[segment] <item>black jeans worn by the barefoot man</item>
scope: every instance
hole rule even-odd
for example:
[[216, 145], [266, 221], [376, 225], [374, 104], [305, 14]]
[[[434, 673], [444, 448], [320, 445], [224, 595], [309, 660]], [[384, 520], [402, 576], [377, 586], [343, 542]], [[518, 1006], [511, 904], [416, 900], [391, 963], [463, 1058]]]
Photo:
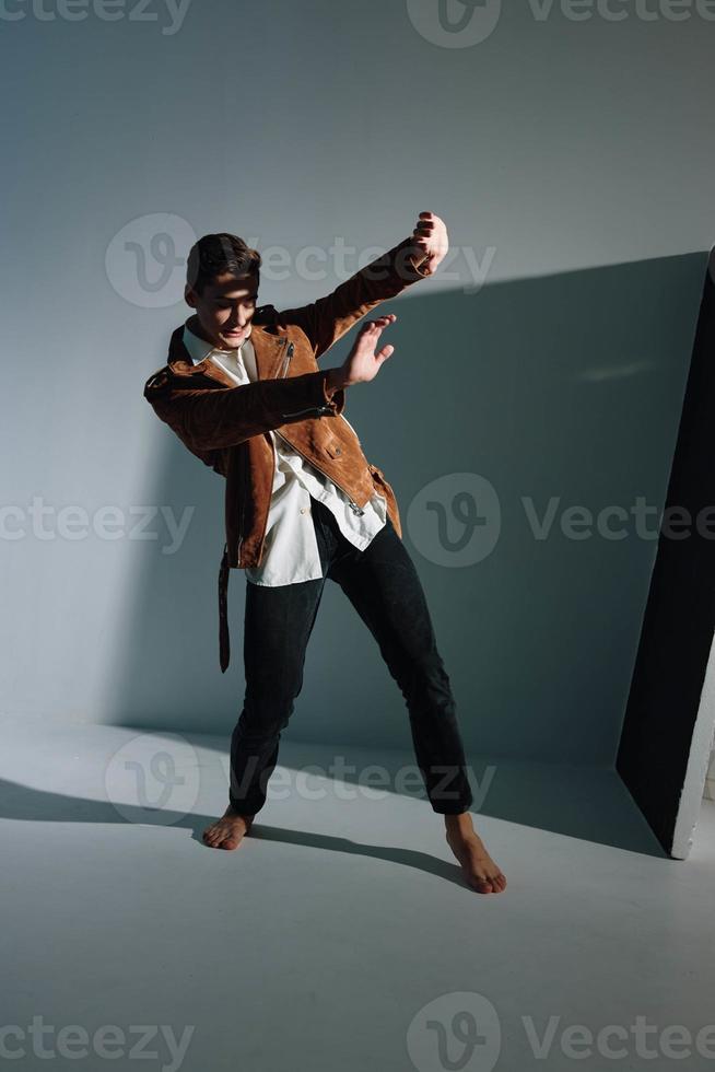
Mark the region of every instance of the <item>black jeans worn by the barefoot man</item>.
[[372, 631], [409, 711], [418, 767], [432, 808], [468, 811], [472, 794], [455, 701], [437, 652], [424, 591], [387, 517], [364, 551], [310, 497], [323, 576], [274, 587], [246, 579], [246, 694], [231, 738], [231, 804], [255, 815], [266, 803], [281, 731], [303, 686], [305, 652], [326, 578], [336, 581]]

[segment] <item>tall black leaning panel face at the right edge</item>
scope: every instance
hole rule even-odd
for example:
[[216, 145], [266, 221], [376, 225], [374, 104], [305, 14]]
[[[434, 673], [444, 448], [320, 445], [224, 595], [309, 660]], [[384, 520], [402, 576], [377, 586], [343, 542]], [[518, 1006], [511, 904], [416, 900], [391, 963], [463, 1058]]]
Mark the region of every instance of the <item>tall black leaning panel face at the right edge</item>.
[[[715, 286], [711, 255], [666, 513], [617, 758], [633, 799], [670, 851], [715, 629]], [[688, 524], [666, 534], [669, 509]]]

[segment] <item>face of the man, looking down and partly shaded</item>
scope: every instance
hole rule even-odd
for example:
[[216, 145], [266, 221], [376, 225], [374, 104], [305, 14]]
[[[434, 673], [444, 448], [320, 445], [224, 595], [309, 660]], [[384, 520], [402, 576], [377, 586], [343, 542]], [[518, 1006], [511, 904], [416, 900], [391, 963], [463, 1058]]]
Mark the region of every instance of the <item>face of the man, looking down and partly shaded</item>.
[[256, 312], [258, 282], [255, 276], [226, 272], [214, 276], [200, 294], [187, 284], [187, 304], [196, 310], [203, 337], [223, 350], [234, 350], [250, 335], [250, 322]]

